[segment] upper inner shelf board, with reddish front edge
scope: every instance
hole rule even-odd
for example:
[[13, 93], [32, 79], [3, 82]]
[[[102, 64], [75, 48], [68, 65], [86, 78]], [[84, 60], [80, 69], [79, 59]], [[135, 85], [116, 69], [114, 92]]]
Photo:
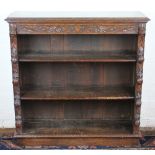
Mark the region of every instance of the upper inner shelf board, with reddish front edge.
[[20, 62], [135, 62], [133, 51], [19, 52]]

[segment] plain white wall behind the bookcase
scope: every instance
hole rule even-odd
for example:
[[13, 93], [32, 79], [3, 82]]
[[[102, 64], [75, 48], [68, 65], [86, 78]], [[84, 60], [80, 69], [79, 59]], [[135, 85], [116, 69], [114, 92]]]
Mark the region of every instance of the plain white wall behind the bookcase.
[[15, 127], [10, 40], [4, 19], [14, 11], [141, 11], [147, 24], [141, 127], [155, 127], [154, 0], [4, 0], [0, 4], [0, 128]]

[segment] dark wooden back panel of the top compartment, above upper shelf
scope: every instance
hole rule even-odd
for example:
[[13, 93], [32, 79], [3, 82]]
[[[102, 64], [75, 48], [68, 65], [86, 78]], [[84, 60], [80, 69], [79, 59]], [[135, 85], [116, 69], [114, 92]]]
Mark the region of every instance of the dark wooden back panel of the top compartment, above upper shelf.
[[[19, 35], [19, 52], [135, 51], [137, 35]], [[73, 52], [73, 53], [72, 53]]]

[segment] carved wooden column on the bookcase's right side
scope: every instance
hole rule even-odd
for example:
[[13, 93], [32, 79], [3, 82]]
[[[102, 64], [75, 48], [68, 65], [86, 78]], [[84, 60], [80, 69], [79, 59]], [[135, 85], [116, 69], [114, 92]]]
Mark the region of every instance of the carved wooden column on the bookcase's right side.
[[141, 94], [143, 83], [143, 62], [144, 62], [144, 42], [145, 42], [145, 24], [139, 24], [138, 30], [138, 47], [136, 61], [136, 81], [135, 81], [135, 104], [134, 104], [134, 125], [133, 132], [140, 132], [140, 111], [141, 111]]

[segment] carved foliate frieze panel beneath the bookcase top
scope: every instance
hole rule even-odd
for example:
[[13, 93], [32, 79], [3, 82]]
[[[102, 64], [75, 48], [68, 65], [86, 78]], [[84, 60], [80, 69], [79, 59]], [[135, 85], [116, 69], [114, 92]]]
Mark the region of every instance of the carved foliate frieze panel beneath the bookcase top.
[[137, 34], [137, 25], [19, 24], [19, 34]]

